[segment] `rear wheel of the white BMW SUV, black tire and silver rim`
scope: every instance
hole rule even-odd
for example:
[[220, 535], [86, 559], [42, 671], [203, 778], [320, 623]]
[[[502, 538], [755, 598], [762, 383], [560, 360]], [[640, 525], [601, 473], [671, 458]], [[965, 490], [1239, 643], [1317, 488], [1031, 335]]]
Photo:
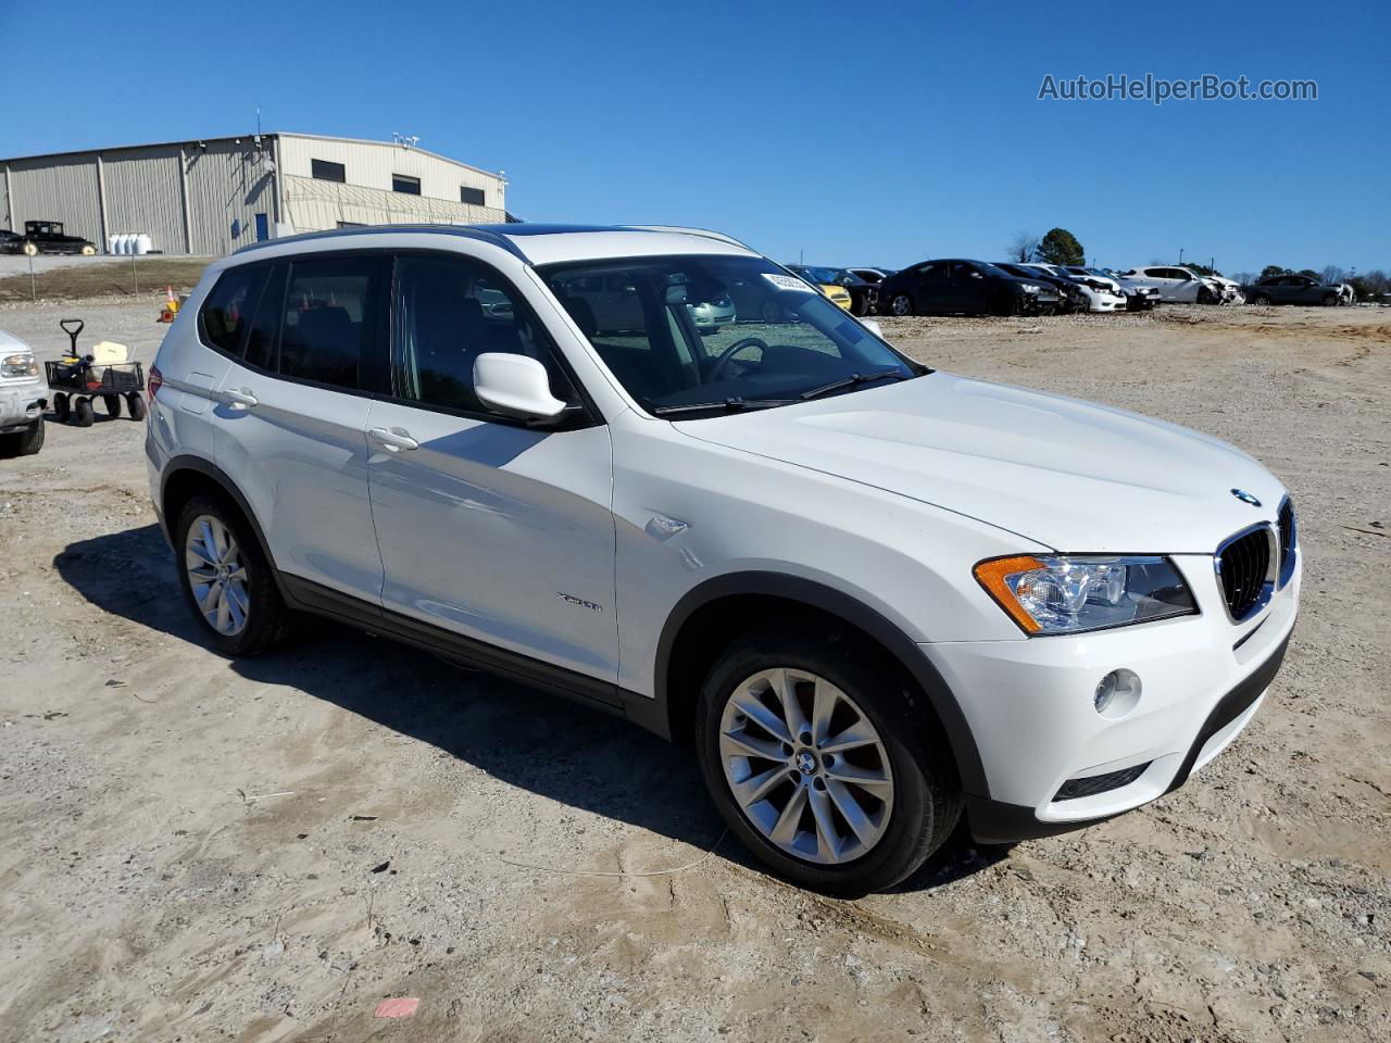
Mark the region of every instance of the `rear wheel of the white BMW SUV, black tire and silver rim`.
[[[270, 562], [230, 501], [193, 496], [185, 503], [174, 523], [174, 548], [184, 601], [217, 652], [259, 655], [285, 636], [289, 609]], [[211, 581], [196, 584], [195, 573]]]

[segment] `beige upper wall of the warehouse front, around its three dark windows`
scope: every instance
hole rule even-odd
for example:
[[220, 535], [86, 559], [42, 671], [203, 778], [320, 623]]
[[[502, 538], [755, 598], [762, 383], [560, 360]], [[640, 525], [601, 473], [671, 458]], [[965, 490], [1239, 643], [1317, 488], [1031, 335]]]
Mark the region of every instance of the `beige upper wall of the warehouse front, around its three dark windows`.
[[460, 186], [480, 188], [488, 209], [506, 210], [506, 182], [502, 178], [442, 156], [433, 156], [420, 149], [402, 149], [399, 145], [280, 135], [281, 171], [291, 177], [307, 178], [312, 175], [310, 160], [341, 163], [346, 171], [348, 185], [388, 193], [392, 174], [420, 178], [420, 197], [456, 204]]

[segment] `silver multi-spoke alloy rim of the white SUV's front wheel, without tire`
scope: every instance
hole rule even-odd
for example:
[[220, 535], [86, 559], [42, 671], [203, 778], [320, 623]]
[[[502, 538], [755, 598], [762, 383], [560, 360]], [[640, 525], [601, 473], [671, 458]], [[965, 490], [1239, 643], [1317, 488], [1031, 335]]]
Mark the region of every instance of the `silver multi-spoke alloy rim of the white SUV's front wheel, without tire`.
[[850, 862], [889, 826], [889, 751], [865, 712], [825, 677], [786, 668], [737, 684], [721, 718], [719, 759], [744, 816], [794, 858]]

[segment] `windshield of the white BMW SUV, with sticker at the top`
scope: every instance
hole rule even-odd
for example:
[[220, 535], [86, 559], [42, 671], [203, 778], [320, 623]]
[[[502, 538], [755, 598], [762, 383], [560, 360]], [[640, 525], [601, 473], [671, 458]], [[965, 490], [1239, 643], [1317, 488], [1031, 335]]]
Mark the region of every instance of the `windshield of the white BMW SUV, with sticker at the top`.
[[[857, 374], [906, 380], [924, 371], [762, 257], [640, 257], [538, 271], [651, 413], [785, 403]], [[709, 302], [727, 303], [704, 306]]]

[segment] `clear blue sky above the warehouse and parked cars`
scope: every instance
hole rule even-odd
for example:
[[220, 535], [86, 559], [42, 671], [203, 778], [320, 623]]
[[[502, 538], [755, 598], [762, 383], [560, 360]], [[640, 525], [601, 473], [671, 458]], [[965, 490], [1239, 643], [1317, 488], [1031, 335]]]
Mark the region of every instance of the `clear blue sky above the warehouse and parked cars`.
[[[533, 221], [779, 260], [1391, 268], [1391, 4], [0, 0], [0, 154], [267, 131], [506, 171]], [[51, 53], [54, 60], [39, 57]], [[11, 68], [11, 74], [15, 68]], [[1314, 79], [1316, 102], [1040, 102], [1045, 74]]]

